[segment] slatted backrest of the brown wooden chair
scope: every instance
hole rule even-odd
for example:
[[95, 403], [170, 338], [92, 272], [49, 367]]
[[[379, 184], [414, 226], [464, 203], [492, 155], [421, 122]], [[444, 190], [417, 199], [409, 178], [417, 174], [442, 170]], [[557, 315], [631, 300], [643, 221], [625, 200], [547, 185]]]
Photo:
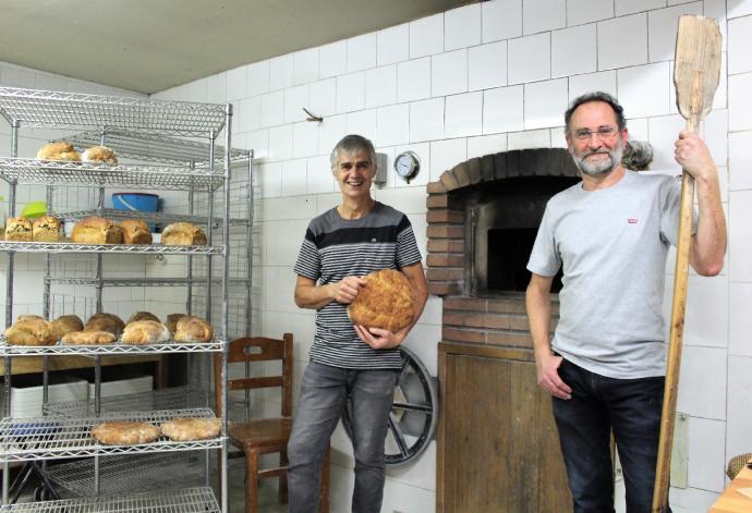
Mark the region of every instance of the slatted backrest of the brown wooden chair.
[[[221, 354], [214, 356], [214, 390], [217, 415], [221, 415]], [[280, 387], [282, 389], [283, 417], [292, 416], [292, 333], [284, 333], [282, 339], [266, 337], [246, 337], [229, 343], [227, 352], [228, 370], [232, 364], [245, 362], [282, 362], [281, 376], [244, 377], [227, 380], [228, 392], [233, 390]], [[228, 371], [229, 374], [229, 371]]]

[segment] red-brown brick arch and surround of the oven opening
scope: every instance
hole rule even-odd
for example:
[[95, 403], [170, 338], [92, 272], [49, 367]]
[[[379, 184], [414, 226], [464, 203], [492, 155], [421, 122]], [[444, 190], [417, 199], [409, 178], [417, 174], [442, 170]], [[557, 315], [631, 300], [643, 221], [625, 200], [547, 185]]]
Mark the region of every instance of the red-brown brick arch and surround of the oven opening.
[[[567, 150], [523, 149], [486, 155], [445, 171], [426, 186], [428, 291], [444, 296], [441, 338], [450, 342], [530, 347], [524, 300], [464, 296], [465, 209], [463, 187], [517, 176], [575, 176]], [[553, 305], [558, 315], [558, 303]], [[556, 319], [555, 319], [556, 320]], [[551, 325], [554, 329], [555, 322]]]

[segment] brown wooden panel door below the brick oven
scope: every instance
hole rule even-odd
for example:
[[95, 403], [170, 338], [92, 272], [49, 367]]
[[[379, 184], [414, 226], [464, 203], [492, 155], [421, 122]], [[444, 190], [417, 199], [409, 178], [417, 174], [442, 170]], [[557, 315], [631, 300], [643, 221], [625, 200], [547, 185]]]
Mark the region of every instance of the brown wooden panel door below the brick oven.
[[567, 486], [550, 395], [532, 362], [447, 354], [438, 450], [447, 512], [563, 512]]

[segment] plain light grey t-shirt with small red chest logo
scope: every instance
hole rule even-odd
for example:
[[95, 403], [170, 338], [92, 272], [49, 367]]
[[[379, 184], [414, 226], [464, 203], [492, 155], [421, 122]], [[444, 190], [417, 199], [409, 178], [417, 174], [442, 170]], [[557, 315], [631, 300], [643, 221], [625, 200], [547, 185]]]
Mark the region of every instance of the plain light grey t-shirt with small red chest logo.
[[665, 374], [665, 266], [680, 193], [670, 176], [627, 171], [608, 188], [578, 183], [548, 201], [527, 269], [550, 277], [563, 266], [554, 351], [611, 378]]

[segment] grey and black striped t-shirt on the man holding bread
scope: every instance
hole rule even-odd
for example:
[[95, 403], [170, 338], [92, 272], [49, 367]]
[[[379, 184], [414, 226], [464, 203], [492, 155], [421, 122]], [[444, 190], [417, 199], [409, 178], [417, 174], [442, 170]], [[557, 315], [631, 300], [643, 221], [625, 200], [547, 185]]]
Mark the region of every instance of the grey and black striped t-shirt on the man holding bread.
[[[361, 219], [342, 219], [332, 208], [314, 218], [305, 232], [294, 271], [317, 285], [380, 269], [401, 269], [421, 261], [408, 217], [376, 201]], [[348, 305], [332, 301], [316, 312], [316, 337], [308, 355], [342, 368], [399, 368], [399, 350], [374, 350], [357, 338]]]

